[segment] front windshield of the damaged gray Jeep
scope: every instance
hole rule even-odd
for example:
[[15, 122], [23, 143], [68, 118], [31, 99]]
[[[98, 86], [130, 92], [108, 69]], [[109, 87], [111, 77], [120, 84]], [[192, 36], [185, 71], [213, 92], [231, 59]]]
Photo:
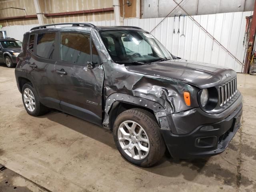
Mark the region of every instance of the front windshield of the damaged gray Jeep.
[[105, 30], [100, 35], [114, 62], [151, 63], [172, 59], [170, 52], [148, 32]]

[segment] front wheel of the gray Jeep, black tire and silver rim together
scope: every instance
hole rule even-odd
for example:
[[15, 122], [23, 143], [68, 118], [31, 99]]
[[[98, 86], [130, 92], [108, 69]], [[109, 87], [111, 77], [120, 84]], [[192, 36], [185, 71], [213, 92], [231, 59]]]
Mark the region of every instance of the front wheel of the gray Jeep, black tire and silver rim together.
[[113, 136], [120, 154], [137, 166], [152, 166], [164, 155], [165, 144], [160, 128], [147, 110], [133, 108], [118, 115]]

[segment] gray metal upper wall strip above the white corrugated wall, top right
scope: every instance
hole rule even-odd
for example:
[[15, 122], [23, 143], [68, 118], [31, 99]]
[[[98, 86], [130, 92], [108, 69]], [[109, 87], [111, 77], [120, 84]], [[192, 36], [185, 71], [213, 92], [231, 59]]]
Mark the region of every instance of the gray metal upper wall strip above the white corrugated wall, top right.
[[186, 14], [176, 2], [190, 15], [204, 15], [253, 11], [255, 0], [143, 0], [142, 18], [165, 17], [173, 9], [169, 17]]

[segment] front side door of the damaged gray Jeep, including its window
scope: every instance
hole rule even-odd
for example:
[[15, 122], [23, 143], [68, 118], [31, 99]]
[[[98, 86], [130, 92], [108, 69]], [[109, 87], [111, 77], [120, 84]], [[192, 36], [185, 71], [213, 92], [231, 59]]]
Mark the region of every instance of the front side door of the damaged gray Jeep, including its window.
[[[62, 111], [102, 125], [104, 71], [90, 34], [59, 33], [60, 61], [55, 83]], [[93, 63], [93, 68], [87, 64]]]

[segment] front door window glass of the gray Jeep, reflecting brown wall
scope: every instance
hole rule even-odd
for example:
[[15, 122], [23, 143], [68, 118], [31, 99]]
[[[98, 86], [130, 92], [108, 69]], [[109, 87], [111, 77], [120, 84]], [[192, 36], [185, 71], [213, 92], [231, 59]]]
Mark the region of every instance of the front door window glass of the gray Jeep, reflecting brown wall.
[[62, 61], [77, 64], [90, 61], [90, 35], [60, 33], [60, 58]]

